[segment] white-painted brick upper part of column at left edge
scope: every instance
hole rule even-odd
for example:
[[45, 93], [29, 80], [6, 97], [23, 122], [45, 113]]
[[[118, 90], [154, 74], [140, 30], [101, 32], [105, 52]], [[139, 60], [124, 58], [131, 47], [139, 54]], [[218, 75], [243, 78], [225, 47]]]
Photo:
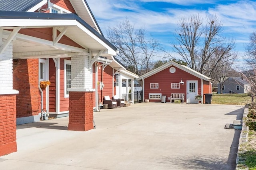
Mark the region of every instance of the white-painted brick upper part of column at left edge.
[[[2, 31], [0, 32], [0, 46], [6, 39], [3, 39]], [[13, 90], [12, 77], [12, 42], [6, 47], [4, 52], [0, 54], [0, 94], [18, 94], [17, 90]]]

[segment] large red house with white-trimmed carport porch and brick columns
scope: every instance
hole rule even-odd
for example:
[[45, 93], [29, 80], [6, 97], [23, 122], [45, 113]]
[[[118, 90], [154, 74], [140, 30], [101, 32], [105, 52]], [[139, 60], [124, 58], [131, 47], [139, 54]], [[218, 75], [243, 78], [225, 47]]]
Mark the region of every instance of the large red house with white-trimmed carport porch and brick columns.
[[43, 111], [69, 114], [69, 130], [93, 129], [99, 94], [117, 94], [117, 74], [120, 82], [138, 77], [113, 57], [116, 51], [86, 0], [0, 1], [0, 156], [17, 150], [16, 121], [39, 121]]

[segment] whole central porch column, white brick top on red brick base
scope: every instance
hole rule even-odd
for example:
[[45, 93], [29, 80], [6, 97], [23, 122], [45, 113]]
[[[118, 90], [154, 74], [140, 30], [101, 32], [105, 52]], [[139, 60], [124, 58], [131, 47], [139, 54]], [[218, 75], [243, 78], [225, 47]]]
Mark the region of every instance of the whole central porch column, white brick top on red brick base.
[[71, 88], [69, 91], [68, 130], [88, 131], [93, 125], [92, 69], [89, 56], [71, 57]]

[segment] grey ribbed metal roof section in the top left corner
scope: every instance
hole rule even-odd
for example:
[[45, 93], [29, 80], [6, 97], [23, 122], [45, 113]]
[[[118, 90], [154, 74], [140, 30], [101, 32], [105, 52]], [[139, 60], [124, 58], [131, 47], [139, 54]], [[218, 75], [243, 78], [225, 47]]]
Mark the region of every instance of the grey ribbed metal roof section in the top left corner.
[[1, 11], [26, 12], [42, 0], [0, 0]]

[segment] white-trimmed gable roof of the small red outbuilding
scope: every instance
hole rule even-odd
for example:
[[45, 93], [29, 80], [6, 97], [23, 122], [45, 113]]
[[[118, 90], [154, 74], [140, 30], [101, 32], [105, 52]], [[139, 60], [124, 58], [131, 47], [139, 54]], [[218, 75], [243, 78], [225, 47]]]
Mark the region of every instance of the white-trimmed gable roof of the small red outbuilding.
[[162, 70], [164, 70], [164, 69], [166, 69], [170, 66], [176, 66], [177, 68], [180, 68], [181, 70], [183, 70], [185, 72], [188, 72], [188, 73], [192, 74], [193, 76], [196, 76], [196, 77], [201, 78], [201, 79], [206, 80], [206, 81], [212, 81], [213, 80], [212, 78], [209, 78], [209, 77], [205, 76], [204, 74], [201, 74], [201, 73], [199, 73], [199, 72], [197, 72], [197, 71], [195, 71], [195, 70], [193, 70], [193, 69], [191, 69], [187, 66], [175, 63], [174, 61], [170, 61], [170, 62], [168, 62], [168, 63], [166, 63], [166, 64], [164, 64], [164, 65], [162, 65], [162, 66], [160, 66], [160, 67], [158, 67], [158, 68], [156, 68], [156, 69], [154, 69], [154, 70], [152, 70], [152, 71], [150, 71], [150, 72], [148, 72], [148, 73], [146, 73], [142, 76], [140, 76], [136, 80], [142, 80], [144, 78], [148, 78], [148, 77], [150, 77], [150, 76], [152, 76], [152, 75], [154, 75], [154, 74], [156, 74], [156, 73], [158, 73], [158, 72], [160, 72], [160, 71], [162, 71]]

